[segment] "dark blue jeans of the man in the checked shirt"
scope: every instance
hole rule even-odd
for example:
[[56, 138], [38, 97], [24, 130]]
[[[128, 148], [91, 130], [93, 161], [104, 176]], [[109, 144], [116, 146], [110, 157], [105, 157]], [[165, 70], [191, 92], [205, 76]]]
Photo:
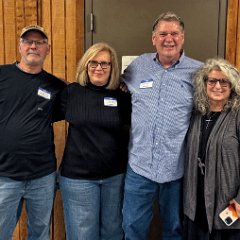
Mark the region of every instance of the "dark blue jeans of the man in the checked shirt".
[[162, 240], [182, 240], [182, 179], [153, 182], [128, 166], [123, 203], [123, 229], [126, 240], [146, 240], [158, 197]]

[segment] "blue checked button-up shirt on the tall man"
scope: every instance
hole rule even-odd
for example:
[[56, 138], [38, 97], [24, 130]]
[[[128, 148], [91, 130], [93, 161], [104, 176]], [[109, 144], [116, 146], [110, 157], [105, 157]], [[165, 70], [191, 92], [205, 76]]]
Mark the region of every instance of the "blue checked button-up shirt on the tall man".
[[183, 176], [184, 140], [193, 108], [193, 73], [201, 62], [181, 58], [164, 69], [156, 53], [143, 54], [125, 70], [132, 93], [129, 164], [159, 183]]

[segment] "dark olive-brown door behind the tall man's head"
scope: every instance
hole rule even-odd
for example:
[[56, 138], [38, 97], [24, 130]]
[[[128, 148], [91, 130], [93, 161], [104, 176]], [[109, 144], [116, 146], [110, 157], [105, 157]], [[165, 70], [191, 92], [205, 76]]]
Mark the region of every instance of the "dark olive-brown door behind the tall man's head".
[[227, 0], [86, 0], [85, 8], [86, 48], [106, 41], [119, 59], [152, 52], [154, 20], [162, 12], [173, 11], [185, 22], [188, 56], [205, 60], [225, 55]]

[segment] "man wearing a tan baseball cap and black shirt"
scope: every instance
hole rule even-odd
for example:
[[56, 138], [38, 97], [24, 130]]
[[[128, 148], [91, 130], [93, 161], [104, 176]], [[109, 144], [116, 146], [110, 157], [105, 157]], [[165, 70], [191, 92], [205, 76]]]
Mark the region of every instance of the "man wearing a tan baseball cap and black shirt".
[[43, 70], [44, 28], [22, 29], [20, 62], [0, 65], [0, 239], [12, 239], [23, 200], [28, 239], [50, 239], [56, 181], [54, 121], [66, 83]]

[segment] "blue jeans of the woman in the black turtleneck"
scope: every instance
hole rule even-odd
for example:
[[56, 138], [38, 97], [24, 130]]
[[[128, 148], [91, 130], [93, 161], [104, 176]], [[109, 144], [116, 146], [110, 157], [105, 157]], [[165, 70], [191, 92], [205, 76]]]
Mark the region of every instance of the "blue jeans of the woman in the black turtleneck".
[[124, 175], [101, 180], [60, 176], [68, 240], [122, 240]]

